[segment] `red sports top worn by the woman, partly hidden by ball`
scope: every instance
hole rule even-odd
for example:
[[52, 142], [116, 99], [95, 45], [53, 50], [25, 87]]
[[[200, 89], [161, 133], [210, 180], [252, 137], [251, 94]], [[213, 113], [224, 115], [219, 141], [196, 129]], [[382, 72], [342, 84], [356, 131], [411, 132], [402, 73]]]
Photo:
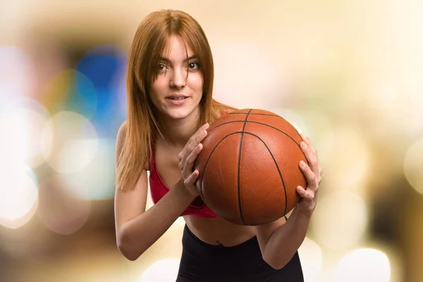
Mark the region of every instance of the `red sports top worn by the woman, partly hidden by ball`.
[[[222, 115], [226, 115], [227, 112], [222, 112]], [[152, 146], [152, 153], [151, 158], [149, 161], [149, 185], [150, 185], [150, 192], [152, 195], [152, 200], [154, 204], [159, 202], [159, 200], [166, 195], [167, 192], [169, 192], [169, 188], [166, 187], [163, 180], [161, 179], [159, 171], [157, 171], [156, 166], [156, 159], [154, 158], [154, 147]], [[200, 217], [207, 217], [207, 218], [216, 218], [218, 215], [214, 214], [209, 207], [207, 207], [206, 204], [202, 204], [201, 206], [194, 206], [190, 204], [187, 209], [180, 215], [185, 216], [191, 214], [193, 216], [200, 216]]]

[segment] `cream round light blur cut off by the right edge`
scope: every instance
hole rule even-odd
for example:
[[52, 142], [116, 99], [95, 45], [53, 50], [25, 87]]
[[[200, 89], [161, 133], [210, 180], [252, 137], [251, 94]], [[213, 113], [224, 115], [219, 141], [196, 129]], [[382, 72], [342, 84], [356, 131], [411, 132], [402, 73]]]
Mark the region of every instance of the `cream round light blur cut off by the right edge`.
[[404, 173], [412, 188], [423, 194], [423, 139], [415, 142], [407, 150]]

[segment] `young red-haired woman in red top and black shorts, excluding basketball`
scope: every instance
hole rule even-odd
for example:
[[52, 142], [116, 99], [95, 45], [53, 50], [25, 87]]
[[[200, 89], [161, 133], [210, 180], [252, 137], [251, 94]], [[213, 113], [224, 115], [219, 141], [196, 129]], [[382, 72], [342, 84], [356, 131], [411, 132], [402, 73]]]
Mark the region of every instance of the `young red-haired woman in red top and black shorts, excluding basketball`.
[[[307, 188], [288, 221], [239, 226], [202, 203], [192, 164], [209, 124], [233, 108], [214, 101], [213, 59], [202, 27], [181, 11], [149, 14], [128, 60], [128, 120], [116, 144], [116, 240], [130, 260], [183, 216], [177, 281], [303, 281], [298, 247], [317, 202], [321, 168], [303, 136]], [[147, 179], [149, 171], [149, 179]], [[154, 206], [145, 210], [147, 184]]]

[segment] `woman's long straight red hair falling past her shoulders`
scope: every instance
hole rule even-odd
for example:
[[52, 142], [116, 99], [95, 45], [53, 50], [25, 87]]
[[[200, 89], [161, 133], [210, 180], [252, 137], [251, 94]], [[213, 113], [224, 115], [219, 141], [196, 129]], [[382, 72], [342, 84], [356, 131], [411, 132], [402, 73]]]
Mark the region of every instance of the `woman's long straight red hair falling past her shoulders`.
[[135, 188], [137, 176], [152, 154], [150, 145], [154, 142], [154, 136], [160, 132], [148, 91], [149, 85], [157, 78], [159, 58], [173, 35], [183, 39], [185, 45], [197, 55], [204, 78], [199, 127], [204, 123], [213, 123], [219, 118], [223, 107], [233, 109], [212, 98], [212, 51], [199, 23], [182, 11], [150, 13], [138, 26], [128, 56], [128, 121], [116, 167], [116, 185], [121, 190]]

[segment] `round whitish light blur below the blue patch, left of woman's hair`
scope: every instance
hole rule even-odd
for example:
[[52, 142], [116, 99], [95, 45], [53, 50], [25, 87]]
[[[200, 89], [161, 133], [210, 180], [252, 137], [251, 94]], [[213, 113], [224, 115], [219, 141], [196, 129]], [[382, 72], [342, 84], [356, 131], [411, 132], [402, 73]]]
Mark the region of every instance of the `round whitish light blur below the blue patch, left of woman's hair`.
[[71, 111], [59, 112], [47, 121], [41, 143], [47, 163], [59, 173], [74, 173], [85, 168], [98, 149], [94, 125]]

